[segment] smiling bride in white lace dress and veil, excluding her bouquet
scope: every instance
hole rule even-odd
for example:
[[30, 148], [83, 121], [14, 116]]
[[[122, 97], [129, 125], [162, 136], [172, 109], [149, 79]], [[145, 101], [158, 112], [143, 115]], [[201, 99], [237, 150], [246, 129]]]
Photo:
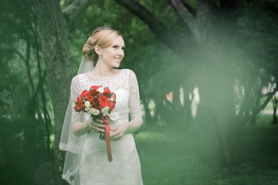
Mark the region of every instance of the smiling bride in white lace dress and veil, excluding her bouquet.
[[[62, 178], [71, 185], [142, 185], [141, 164], [133, 139], [142, 125], [139, 88], [135, 73], [118, 68], [124, 57], [122, 35], [109, 27], [98, 27], [83, 47], [77, 76], [61, 134], [60, 150], [66, 151]], [[91, 113], [76, 112], [74, 101], [92, 85], [108, 86], [116, 94], [115, 108], [108, 119], [112, 161], [106, 141], [99, 139], [105, 125]], [[130, 109], [131, 121], [128, 119]]]

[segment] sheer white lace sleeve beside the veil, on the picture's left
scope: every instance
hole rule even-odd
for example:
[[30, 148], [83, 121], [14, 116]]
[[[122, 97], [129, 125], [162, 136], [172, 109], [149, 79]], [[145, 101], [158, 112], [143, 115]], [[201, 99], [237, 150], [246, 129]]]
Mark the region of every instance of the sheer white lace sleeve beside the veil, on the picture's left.
[[71, 81], [70, 86], [70, 98], [71, 98], [71, 122], [72, 125], [74, 125], [76, 122], [83, 122], [83, 111], [78, 113], [74, 109], [74, 101], [77, 99], [77, 97], [80, 95], [79, 93], [79, 78], [78, 76], [74, 76], [74, 78]]

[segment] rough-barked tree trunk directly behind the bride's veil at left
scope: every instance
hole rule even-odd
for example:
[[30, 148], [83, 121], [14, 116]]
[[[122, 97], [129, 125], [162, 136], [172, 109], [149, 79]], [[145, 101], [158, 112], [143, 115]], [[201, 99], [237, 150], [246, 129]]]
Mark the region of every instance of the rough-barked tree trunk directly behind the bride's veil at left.
[[55, 168], [63, 169], [65, 152], [59, 150], [59, 142], [70, 98], [71, 79], [74, 76], [70, 62], [68, 33], [59, 1], [36, 0], [34, 6], [55, 119]]

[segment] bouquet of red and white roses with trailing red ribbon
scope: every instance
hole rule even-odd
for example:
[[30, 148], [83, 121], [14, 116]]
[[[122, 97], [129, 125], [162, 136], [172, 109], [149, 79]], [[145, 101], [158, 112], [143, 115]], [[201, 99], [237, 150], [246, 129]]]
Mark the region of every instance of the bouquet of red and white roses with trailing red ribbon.
[[99, 131], [99, 139], [106, 140], [107, 156], [109, 162], [112, 161], [111, 147], [110, 147], [110, 125], [108, 119], [109, 114], [115, 108], [116, 94], [111, 92], [108, 87], [91, 86], [88, 90], [84, 90], [80, 93], [80, 96], [74, 101], [74, 109], [76, 112], [83, 111], [84, 113], [91, 113], [93, 121], [96, 118], [103, 121], [106, 124], [105, 134]]

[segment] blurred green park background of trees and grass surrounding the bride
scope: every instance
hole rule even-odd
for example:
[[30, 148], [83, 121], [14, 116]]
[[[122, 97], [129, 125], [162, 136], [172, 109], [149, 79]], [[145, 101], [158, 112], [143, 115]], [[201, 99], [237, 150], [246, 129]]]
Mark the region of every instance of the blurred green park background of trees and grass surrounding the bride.
[[123, 35], [145, 185], [278, 184], [275, 0], [1, 0], [1, 184], [66, 184], [62, 125], [82, 47]]

